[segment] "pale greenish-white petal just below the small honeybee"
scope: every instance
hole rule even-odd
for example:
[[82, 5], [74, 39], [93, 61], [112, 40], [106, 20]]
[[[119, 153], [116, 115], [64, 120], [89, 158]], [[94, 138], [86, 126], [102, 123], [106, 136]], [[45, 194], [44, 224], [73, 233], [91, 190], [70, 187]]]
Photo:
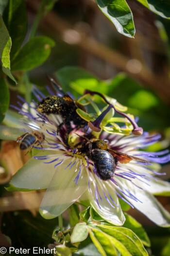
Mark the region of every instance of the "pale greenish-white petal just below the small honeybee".
[[[41, 152], [36, 156], [46, 156], [47, 154], [54, 154], [54, 151]], [[52, 159], [55, 159], [55, 155]], [[47, 161], [51, 161], [51, 159], [38, 160], [31, 158], [17, 171], [17, 173], [12, 177], [10, 183], [17, 188], [33, 190], [47, 188], [56, 171], [54, 168], [55, 162], [48, 164], [43, 163]]]

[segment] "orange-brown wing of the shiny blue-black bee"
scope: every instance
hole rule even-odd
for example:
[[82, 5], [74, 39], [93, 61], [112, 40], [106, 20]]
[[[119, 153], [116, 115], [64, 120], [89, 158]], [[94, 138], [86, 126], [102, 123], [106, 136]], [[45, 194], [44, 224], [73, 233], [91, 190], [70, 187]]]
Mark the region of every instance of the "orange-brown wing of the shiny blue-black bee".
[[124, 153], [121, 153], [121, 152], [118, 152], [116, 150], [109, 150], [109, 153], [118, 159], [118, 161], [120, 163], [129, 163], [130, 161], [132, 160], [136, 160], [136, 161], [140, 161], [140, 162], [144, 162], [144, 163], [150, 163], [149, 161], [147, 160], [144, 160], [142, 158], [136, 158], [136, 157], [132, 157], [132, 156], [129, 156], [129, 155], [126, 155]]

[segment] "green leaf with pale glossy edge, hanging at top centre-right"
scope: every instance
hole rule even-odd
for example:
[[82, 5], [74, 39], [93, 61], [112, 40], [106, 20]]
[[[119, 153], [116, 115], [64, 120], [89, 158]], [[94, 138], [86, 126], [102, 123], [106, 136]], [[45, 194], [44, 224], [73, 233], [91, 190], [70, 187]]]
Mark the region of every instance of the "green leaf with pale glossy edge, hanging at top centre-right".
[[96, 0], [101, 11], [116, 26], [118, 32], [126, 37], [133, 38], [135, 25], [133, 14], [125, 0]]

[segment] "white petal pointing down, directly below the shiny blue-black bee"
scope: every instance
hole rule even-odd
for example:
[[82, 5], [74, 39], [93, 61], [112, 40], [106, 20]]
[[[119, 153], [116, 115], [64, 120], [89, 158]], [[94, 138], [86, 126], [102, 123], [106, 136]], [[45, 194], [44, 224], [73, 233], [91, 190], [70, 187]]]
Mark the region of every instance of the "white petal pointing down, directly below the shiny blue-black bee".
[[[97, 180], [97, 177], [96, 177], [96, 180]], [[91, 206], [94, 208], [94, 210], [101, 216], [103, 217], [103, 219], [105, 219], [106, 221], [114, 224], [114, 225], [118, 225], [118, 226], [121, 226], [123, 225], [124, 221], [125, 221], [125, 217], [123, 215], [123, 212], [121, 210], [121, 207], [120, 207], [120, 204], [119, 204], [119, 199], [117, 197], [117, 195], [115, 194], [114, 192], [114, 188], [111, 189], [107, 182], [110, 182], [111, 186], [113, 186], [112, 182], [111, 181], [103, 181], [101, 180], [102, 183], [105, 184], [106, 186], [106, 189], [108, 190], [109, 194], [111, 195], [112, 199], [114, 200], [114, 202], [117, 204], [114, 205], [114, 203], [112, 202], [112, 200], [110, 199], [109, 195], [106, 194], [105, 192], [105, 195], [108, 197], [110, 203], [115, 207], [113, 208], [109, 203], [108, 201], [106, 200], [103, 192], [102, 192], [102, 189], [101, 187], [98, 185], [98, 190], [99, 190], [99, 194], [101, 195], [102, 197], [102, 200], [100, 199], [99, 195], [98, 195], [98, 202], [99, 202], [99, 205], [98, 205], [98, 202], [97, 202], [97, 199], [96, 199], [96, 195], [95, 195], [95, 189], [94, 189], [94, 186], [90, 186], [91, 188], [91, 192], [89, 192], [89, 190], [87, 190], [85, 192], [85, 194], [83, 195], [83, 197], [81, 197], [81, 199], [85, 200], [85, 197], [86, 199], [88, 199], [90, 201], [90, 204]]]

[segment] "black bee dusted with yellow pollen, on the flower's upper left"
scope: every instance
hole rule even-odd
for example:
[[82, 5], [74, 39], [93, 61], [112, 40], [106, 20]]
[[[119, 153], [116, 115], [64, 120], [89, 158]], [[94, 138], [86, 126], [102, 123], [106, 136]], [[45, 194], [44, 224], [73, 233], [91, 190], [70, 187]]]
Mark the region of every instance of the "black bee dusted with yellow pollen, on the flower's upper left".
[[[61, 115], [61, 117], [63, 118], [63, 121], [59, 124], [57, 128], [57, 134], [62, 128], [62, 126], [65, 124], [67, 128], [67, 138], [66, 138], [66, 142], [67, 142], [68, 135], [73, 129], [75, 128], [79, 129], [87, 125], [87, 121], [81, 118], [76, 112], [76, 109], [78, 108], [82, 109], [85, 112], [86, 112], [86, 109], [84, 105], [77, 102], [77, 100], [72, 99], [68, 94], [65, 94], [62, 88], [58, 84], [56, 84], [53, 79], [50, 78], [50, 80], [53, 87], [60, 93], [60, 95], [62, 95], [62, 97], [59, 97], [56, 95], [48, 96], [37, 104], [36, 110], [39, 113], [43, 113], [47, 115], [49, 114]], [[74, 128], [72, 128], [71, 122], [75, 125]]]

